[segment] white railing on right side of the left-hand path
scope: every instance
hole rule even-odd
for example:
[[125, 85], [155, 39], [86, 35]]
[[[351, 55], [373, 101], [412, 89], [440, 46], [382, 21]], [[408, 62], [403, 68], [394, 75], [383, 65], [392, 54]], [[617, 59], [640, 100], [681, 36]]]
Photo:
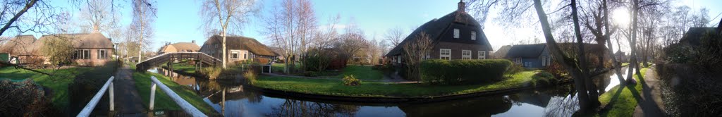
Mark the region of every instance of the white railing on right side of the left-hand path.
[[168, 88], [168, 86], [165, 86], [165, 84], [158, 81], [158, 79], [156, 79], [155, 77], [150, 77], [150, 79], [153, 82], [152, 86], [150, 87], [150, 104], [149, 104], [150, 110], [153, 110], [153, 105], [155, 105], [155, 87], [157, 85], [160, 85], [160, 90], [162, 90], [163, 92], [165, 92], [165, 94], [170, 96], [170, 98], [173, 99], [173, 101], [175, 103], [177, 103], [178, 106], [181, 106], [181, 108], [183, 108], [183, 110], [185, 110], [186, 113], [191, 114], [191, 116], [206, 116], [205, 114], [203, 114], [203, 112], [201, 112], [201, 110], [198, 110], [198, 108], [193, 107], [193, 105], [191, 105], [191, 103], [186, 102], [186, 100], [183, 100], [183, 98], [181, 98], [181, 96], [178, 96], [178, 94], [175, 94], [175, 92], [173, 92], [173, 90], [170, 90], [170, 88]]

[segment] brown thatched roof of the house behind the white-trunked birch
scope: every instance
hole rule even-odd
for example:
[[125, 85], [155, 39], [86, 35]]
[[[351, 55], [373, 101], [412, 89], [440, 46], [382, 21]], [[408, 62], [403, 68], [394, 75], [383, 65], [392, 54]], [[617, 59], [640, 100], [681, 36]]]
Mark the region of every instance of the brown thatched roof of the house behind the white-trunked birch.
[[[213, 35], [211, 38], [203, 43], [201, 50], [205, 49], [221, 49], [220, 35]], [[226, 48], [229, 50], [248, 50], [251, 53], [261, 56], [278, 56], [277, 53], [271, 50], [268, 46], [259, 43], [258, 40], [243, 36], [226, 36]]]

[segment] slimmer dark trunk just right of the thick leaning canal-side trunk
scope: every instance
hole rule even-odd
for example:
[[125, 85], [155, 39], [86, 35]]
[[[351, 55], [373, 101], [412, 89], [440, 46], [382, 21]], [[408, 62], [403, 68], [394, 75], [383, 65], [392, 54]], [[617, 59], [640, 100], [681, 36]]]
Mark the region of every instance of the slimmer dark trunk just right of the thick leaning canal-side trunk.
[[589, 101], [591, 103], [589, 106], [598, 106], [600, 104], [599, 92], [597, 92], [596, 85], [594, 85], [594, 82], [592, 82], [591, 77], [588, 75], [589, 67], [586, 60], [586, 51], [584, 51], [584, 41], [579, 27], [579, 15], [577, 13], [577, 3], [575, 0], [572, 0], [572, 20], [574, 23], [574, 35], [577, 38], [577, 46], [579, 48], [579, 53], [577, 54], [579, 59], [579, 69], [581, 71], [579, 77], [581, 77], [580, 79], [583, 79], [584, 84], [586, 85], [586, 90], [589, 92]]

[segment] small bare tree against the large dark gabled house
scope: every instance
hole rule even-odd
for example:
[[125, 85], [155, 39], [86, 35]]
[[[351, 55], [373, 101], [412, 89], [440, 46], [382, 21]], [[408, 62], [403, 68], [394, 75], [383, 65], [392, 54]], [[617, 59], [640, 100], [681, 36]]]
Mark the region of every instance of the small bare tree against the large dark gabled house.
[[431, 37], [426, 32], [421, 32], [419, 35], [415, 35], [413, 40], [404, 43], [403, 47], [404, 51], [401, 56], [404, 58], [404, 65], [406, 65], [406, 75], [409, 78], [418, 80], [421, 78], [421, 61], [434, 47]]

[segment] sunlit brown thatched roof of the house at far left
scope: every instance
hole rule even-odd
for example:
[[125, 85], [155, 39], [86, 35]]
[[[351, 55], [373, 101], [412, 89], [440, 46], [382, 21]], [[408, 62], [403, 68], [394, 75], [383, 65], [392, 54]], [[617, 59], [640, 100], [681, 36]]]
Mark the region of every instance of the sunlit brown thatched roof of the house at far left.
[[99, 32], [43, 35], [40, 40], [63, 39], [73, 42], [74, 48], [113, 48], [113, 42]]

